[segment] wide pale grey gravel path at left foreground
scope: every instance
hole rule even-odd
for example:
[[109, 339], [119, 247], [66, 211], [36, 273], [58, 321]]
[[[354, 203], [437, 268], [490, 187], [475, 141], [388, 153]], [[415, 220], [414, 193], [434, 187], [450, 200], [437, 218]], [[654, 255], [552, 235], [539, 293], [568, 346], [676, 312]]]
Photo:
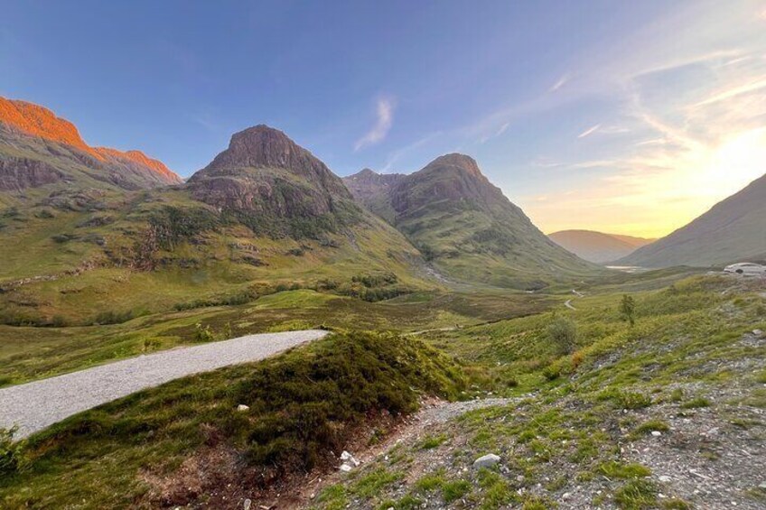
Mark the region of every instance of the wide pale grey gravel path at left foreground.
[[61, 422], [102, 403], [221, 366], [257, 361], [322, 338], [310, 329], [233, 338], [133, 357], [64, 376], [0, 389], [0, 428], [18, 425], [16, 438]]

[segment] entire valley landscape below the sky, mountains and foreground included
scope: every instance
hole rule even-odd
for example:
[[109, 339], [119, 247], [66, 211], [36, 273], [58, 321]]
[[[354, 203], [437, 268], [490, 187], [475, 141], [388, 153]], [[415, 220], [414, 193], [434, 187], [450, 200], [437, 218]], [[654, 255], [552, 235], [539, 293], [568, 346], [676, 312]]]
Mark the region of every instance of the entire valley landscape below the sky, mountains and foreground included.
[[255, 125], [182, 180], [2, 99], [0, 505], [758, 508], [759, 182], [549, 237], [466, 154], [341, 178]]

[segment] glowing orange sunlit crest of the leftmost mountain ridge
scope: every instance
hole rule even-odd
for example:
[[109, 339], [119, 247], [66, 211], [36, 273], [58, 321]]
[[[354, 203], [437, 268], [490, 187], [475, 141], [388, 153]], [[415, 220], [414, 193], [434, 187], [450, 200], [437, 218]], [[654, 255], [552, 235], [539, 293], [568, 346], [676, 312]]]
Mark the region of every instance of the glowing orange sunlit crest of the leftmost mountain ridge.
[[48, 108], [33, 103], [0, 97], [0, 123], [11, 125], [24, 134], [70, 145], [100, 162], [117, 160], [122, 163], [137, 163], [157, 173], [169, 184], [182, 182], [182, 179], [163, 162], [152, 159], [141, 151], [122, 152], [109, 147], [91, 147], [80, 137], [77, 127], [70, 121], [56, 116]]

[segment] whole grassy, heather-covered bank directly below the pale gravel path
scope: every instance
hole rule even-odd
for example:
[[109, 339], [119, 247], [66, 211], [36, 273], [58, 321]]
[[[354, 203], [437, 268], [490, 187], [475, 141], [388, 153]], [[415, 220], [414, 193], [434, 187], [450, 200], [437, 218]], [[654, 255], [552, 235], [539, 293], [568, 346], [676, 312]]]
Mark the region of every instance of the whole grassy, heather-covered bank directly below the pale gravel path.
[[[255, 365], [145, 390], [54, 425], [24, 446], [27, 467], [0, 479], [0, 502], [61, 507], [86, 498], [96, 506], [156, 505], [147, 473], [173, 485], [182, 459], [211, 452], [245, 459], [246, 467], [229, 476], [257, 471], [274, 480], [334, 462], [330, 451], [342, 450], [349, 431], [367, 417], [411, 413], [420, 394], [455, 397], [463, 385], [456, 366], [414, 339], [334, 335]], [[239, 403], [249, 411], [238, 412]], [[360, 480], [360, 494], [393, 481], [378, 475]], [[173, 504], [194, 498], [178, 487]]]

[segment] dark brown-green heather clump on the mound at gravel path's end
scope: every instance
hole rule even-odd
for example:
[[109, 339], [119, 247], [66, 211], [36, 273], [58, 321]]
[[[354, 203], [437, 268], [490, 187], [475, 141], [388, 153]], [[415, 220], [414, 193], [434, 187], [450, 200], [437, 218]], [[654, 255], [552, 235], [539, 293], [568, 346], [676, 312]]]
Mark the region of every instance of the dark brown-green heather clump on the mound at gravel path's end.
[[342, 450], [348, 427], [369, 413], [410, 413], [419, 391], [454, 397], [464, 386], [456, 366], [421, 342], [354, 333], [308, 359], [294, 352], [262, 365], [235, 394], [258, 414], [250, 462], [309, 469], [322, 452]]

